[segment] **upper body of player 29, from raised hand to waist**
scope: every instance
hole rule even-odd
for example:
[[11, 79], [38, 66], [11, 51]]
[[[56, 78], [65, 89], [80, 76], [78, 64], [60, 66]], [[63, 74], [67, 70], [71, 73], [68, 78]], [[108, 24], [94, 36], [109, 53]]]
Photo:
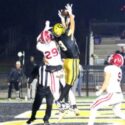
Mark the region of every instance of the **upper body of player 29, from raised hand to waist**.
[[[46, 65], [57, 66], [62, 65], [61, 55], [56, 42], [53, 39], [51, 31], [49, 31], [49, 22], [46, 21], [44, 30], [37, 37], [37, 50], [44, 55]], [[48, 27], [48, 28], [46, 28]], [[56, 62], [56, 63], [55, 63]]]

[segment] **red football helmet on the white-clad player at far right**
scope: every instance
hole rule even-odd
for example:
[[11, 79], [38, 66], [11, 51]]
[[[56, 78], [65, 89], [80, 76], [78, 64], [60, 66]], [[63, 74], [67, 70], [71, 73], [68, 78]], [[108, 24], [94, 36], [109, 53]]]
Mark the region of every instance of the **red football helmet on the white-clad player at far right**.
[[108, 59], [108, 63], [121, 67], [124, 64], [124, 58], [121, 54], [112, 54]]

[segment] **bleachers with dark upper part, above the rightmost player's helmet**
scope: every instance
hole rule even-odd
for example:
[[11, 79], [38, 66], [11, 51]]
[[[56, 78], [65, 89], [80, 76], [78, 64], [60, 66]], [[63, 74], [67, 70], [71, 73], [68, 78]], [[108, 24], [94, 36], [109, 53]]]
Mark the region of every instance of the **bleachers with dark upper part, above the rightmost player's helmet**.
[[94, 54], [97, 57], [94, 65], [103, 64], [107, 56], [121, 50], [118, 44], [125, 44], [124, 36], [122, 36], [125, 23], [92, 23], [91, 30], [94, 38]]

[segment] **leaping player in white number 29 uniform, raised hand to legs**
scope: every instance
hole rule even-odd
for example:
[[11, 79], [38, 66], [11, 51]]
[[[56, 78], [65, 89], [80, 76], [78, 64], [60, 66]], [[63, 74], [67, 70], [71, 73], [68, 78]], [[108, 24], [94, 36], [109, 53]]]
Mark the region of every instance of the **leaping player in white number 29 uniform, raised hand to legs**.
[[59, 77], [62, 75], [63, 62], [59, 48], [53, 40], [53, 35], [49, 29], [49, 21], [46, 21], [44, 30], [37, 37], [36, 48], [43, 53], [47, 70], [48, 72], [51, 72], [52, 84], [50, 85], [50, 88], [54, 99], [56, 100], [59, 98]]

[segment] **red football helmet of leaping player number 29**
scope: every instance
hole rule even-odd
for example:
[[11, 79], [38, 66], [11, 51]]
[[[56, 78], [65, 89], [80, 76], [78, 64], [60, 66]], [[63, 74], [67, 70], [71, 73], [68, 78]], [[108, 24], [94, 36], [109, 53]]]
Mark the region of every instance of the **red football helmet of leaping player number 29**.
[[52, 33], [48, 30], [44, 30], [40, 33], [39, 41], [41, 43], [49, 43], [52, 38]]

